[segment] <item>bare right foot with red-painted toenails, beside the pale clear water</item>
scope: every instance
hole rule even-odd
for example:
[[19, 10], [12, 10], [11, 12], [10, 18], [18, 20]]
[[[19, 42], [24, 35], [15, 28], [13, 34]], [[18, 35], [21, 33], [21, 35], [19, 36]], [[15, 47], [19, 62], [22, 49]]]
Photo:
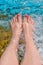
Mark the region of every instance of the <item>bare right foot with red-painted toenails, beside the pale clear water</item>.
[[23, 21], [23, 31], [25, 36], [25, 42], [33, 39], [34, 21], [32, 17], [25, 15]]

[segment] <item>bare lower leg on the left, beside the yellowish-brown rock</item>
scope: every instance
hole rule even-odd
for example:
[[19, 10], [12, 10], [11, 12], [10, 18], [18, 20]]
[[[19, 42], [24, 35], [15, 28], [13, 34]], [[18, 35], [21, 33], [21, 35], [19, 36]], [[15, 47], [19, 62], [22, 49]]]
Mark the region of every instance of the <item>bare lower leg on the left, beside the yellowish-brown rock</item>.
[[3, 53], [1, 57], [1, 65], [18, 65], [18, 60], [17, 60], [17, 47], [16, 47], [16, 42], [14, 41], [15, 39], [12, 39], [10, 41], [9, 46], [6, 48], [5, 52]]

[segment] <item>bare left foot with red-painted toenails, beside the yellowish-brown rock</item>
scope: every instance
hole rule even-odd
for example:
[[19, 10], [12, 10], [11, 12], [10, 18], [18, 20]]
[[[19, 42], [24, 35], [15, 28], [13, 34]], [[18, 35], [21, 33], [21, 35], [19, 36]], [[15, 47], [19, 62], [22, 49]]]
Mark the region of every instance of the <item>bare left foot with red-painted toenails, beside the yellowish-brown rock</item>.
[[20, 38], [20, 34], [22, 31], [22, 18], [20, 14], [15, 15], [15, 17], [12, 19], [11, 30], [12, 30], [12, 37], [18, 40]]

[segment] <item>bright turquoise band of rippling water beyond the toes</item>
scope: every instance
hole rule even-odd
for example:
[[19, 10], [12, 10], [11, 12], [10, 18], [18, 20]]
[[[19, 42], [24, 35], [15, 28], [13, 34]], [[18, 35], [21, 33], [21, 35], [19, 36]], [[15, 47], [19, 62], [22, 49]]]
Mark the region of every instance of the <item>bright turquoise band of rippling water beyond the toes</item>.
[[43, 14], [43, 0], [0, 0], [0, 14]]

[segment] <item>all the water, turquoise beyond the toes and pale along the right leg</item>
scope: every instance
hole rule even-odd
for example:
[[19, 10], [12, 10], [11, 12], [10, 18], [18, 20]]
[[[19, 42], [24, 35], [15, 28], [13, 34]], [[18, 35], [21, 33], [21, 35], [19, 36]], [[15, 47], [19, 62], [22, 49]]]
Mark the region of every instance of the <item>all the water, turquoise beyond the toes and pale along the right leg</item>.
[[28, 14], [35, 21], [34, 39], [43, 60], [43, 0], [0, 0], [0, 25], [9, 26], [11, 18], [20, 13]]

